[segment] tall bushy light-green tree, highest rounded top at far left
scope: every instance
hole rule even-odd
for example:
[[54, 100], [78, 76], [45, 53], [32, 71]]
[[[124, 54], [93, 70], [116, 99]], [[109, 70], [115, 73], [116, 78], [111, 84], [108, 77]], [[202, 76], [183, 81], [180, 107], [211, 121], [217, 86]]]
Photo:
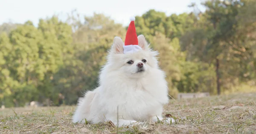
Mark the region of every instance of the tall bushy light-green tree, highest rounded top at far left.
[[56, 73], [61, 67], [76, 64], [72, 45], [72, 29], [67, 23], [61, 22], [57, 16], [53, 16], [49, 19], [41, 19], [38, 30], [44, 36], [43, 42], [39, 44], [39, 54], [44, 61], [43, 67], [46, 69], [46, 75], [38, 87], [41, 90], [40, 99], [50, 99], [58, 105], [57, 96], [60, 92], [63, 94], [63, 91], [55, 88], [59, 85], [57, 80], [60, 79]]

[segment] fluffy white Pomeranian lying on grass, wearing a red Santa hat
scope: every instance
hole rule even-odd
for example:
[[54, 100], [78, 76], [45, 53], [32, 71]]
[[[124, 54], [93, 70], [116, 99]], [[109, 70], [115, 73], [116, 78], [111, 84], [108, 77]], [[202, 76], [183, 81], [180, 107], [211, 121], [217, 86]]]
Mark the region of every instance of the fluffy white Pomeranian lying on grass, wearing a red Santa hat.
[[127, 126], [146, 120], [175, 122], [162, 116], [169, 98], [165, 73], [157, 63], [158, 53], [143, 35], [137, 37], [134, 20], [131, 19], [125, 43], [114, 38], [99, 75], [99, 87], [86, 92], [79, 101], [73, 123], [111, 121], [116, 126]]

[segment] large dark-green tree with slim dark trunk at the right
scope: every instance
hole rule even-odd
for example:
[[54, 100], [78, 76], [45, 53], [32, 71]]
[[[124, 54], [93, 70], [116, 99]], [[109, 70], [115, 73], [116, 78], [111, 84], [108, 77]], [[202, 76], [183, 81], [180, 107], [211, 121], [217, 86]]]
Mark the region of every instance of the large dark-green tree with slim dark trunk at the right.
[[[251, 48], [240, 49], [244, 48], [245, 42], [242, 38], [247, 34], [243, 31], [239, 35], [239, 20], [237, 20], [239, 9], [243, 3], [236, 0], [211, 0], [205, 2], [204, 6], [207, 7], [207, 10], [199, 16], [200, 21], [196, 24], [198, 27], [182, 37], [182, 46], [189, 50], [190, 59], [199, 59], [209, 64], [215, 61], [216, 85], [219, 95], [221, 84], [228, 89], [235, 83], [239, 83], [241, 73], [244, 73], [242, 71], [244, 67], [241, 65], [250, 62], [251, 58], [244, 63], [244, 58], [246, 59], [246, 56], [250, 55]], [[240, 25], [242, 24], [240, 23]], [[237, 66], [239, 64], [240, 66]]]

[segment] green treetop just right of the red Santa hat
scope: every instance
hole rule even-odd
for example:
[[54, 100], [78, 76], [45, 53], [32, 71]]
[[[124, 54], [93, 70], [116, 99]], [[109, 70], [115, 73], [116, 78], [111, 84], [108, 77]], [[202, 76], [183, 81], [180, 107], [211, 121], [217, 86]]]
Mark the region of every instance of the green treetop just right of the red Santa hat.
[[155, 36], [156, 32], [164, 34], [167, 38], [180, 38], [181, 35], [194, 27], [196, 16], [191, 14], [172, 14], [169, 17], [164, 12], [153, 9], [141, 17], [136, 17], [137, 34], [145, 34], [148, 38]]

